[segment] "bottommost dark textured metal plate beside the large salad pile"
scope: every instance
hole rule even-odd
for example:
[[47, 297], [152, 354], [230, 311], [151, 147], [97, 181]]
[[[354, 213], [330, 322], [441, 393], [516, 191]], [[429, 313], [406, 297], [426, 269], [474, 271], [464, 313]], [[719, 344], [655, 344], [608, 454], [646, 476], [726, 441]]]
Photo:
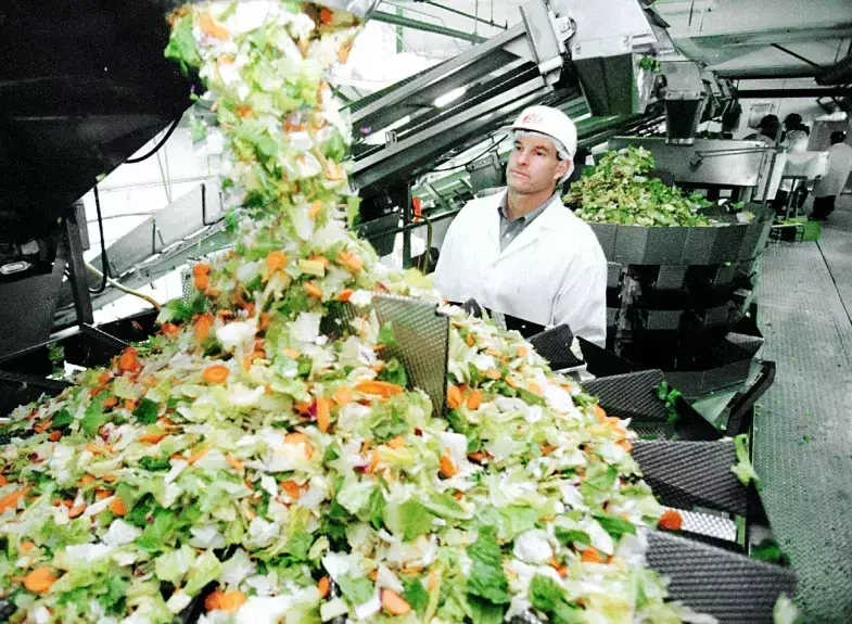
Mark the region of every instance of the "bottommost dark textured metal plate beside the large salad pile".
[[720, 624], [771, 624], [778, 596], [796, 587], [790, 570], [658, 531], [648, 532], [647, 560], [671, 580], [672, 598]]

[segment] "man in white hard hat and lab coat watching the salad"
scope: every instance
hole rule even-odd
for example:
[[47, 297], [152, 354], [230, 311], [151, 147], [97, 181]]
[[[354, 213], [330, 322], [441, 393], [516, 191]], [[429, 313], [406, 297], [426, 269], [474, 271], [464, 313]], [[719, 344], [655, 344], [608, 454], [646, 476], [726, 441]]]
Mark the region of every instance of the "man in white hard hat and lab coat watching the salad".
[[512, 125], [508, 190], [473, 200], [450, 225], [435, 269], [449, 301], [475, 298], [494, 311], [606, 342], [607, 259], [592, 228], [562, 205], [574, 168], [576, 128], [548, 106]]

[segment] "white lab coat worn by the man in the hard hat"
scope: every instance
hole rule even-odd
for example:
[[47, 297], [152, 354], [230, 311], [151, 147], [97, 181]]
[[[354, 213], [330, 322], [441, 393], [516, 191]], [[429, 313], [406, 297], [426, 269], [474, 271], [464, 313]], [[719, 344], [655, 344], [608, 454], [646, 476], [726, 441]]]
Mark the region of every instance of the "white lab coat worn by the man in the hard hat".
[[469, 202], [449, 226], [435, 288], [449, 301], [481, 305], [574, 335], [607, 338], [607, 258], [595, 232], [556, 198], [500, 252], [505, 193]]

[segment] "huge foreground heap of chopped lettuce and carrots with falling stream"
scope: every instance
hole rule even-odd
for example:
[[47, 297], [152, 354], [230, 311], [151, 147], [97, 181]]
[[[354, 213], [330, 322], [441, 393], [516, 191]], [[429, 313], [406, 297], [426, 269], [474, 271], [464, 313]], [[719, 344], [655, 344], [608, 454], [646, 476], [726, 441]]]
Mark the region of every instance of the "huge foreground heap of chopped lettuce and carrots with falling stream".
[[[349, 127], [325, 81], [358, 31], [292, 1], [186, 7], [231, 160], [236, 246], [156, 335], [15, 410], [0, 449], [13, 621], [712, 622], [666, 600], [645, 532], [676, 530], [630, 422], [520, 334], [450, 316], [448, 413], [409, 390], [369, 302], [438, 303], [346, 227]], [[335, 335], [330, 308], [363, 314]]]

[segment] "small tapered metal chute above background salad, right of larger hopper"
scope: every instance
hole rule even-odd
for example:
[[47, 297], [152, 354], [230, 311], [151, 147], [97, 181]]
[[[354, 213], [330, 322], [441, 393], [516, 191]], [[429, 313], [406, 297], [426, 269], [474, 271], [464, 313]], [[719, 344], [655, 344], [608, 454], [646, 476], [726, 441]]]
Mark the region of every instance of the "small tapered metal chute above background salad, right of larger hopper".
[[672, 145], [695, 143], [708, 95], [698, 65], [692, 61], [663, 61], [665, 140]]

